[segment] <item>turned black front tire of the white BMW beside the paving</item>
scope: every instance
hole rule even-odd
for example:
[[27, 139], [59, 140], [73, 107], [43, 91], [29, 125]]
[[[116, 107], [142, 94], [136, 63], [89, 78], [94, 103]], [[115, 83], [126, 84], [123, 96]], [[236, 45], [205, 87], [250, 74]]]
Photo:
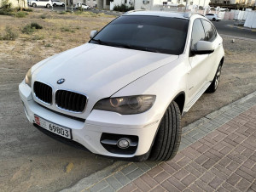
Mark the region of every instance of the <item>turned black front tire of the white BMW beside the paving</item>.
[[168, 161], [176, 154], [181, 140], [181, 115], [176, 102], [172, 102], [160, 121], [149, 160]]

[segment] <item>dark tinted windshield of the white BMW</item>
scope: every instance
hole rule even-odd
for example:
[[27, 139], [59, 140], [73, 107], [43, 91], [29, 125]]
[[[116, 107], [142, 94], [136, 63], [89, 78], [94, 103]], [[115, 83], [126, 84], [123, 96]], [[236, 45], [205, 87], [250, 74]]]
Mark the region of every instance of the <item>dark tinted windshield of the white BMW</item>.
[[123, 15], [100, 31], [90, 43], [162, 54], [183, 54], [189, 20]]

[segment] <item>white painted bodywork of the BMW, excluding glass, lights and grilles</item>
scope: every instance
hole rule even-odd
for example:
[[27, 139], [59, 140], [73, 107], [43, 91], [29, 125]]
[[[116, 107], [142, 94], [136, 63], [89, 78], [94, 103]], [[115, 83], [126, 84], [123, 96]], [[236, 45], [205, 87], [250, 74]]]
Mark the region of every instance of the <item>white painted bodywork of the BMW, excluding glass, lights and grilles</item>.
[[[181, 14], [164, 12], [143, 11], [130, 14], [188, 19]], [[212, 42], [215, 48], [212, 54], [189, 56], [192, 25], [198, 18], [204, 19], [199, 14], [193, 14], [188, 19], [187, 42], [180, 55], [86, 43], [32, 66], [32, 84], [35, 81], [45, 82], [53, 88], [54, 93], [58, 89], [84, 93], [88, 97], [88, 103], [83, 113], [61, 110], [55, 104], [44, 104], [37, 99], [33, 89], [23, 81], [19, 91], [27, 119], [33, 123], [34, 114], [37, 114], [47, 121], [71, 128], [73, 140], [96, 154], [126, 158], [146, 154], [172, 100], [179, 93], [185, 93], [183, 113], [187, 112], [209, 86], [224, 57], [222, 38], [219, 35]], [[56, 81], [61, 78], [65, 78], [66, 82], [59, 85]], [[141, 114], [120, 115], [116, 112], [93, 110], [100, 99], [143, 94], [156, 95], [156, 99], [150, 110]], [[85, 122], [61, 116], [55, 111], [84, 118]], [[100, 143], [102, 133], [137, 135], [139, 143], [136, 152], [132, 155], [108, 152]]]

